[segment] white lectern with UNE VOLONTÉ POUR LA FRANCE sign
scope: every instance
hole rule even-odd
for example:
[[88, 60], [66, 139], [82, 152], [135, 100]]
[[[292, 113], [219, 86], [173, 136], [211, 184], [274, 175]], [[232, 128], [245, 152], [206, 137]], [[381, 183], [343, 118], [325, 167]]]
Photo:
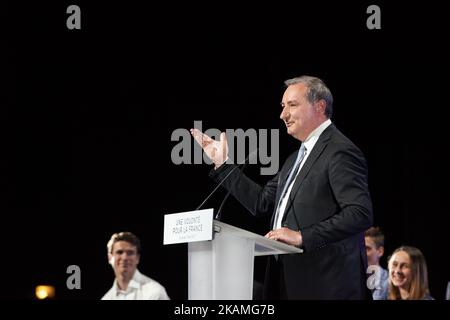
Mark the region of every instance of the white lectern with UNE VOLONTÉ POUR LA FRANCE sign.
[[[172, 216], [171, 218], [181, 216], [182, 219], [172, 219], [173, 222], [168, 223], [168, 216]], [[212, 209], [166, 215], [164, 243], [189, 242], [189, 300], [251, 300], [255, 256], [302, 252], [297, 247], [212, 220], [212, 216]], [[200, 222], [202, 219], [203, 222]], [[192, 224], [194, 220], [198, 222], [195, 226]], [[182, 233], [180, 225], [187, 222], [189, 226], [183, 227], [186, 232], [180, 236]], [[213, 230], [205, 230], [211, 227]], [[173, 232], [172, 230], [178, 230], [175, 240], [171, 239], [174, 235], [169, 234]], [[195, 239], [199, 234], [192, 235], [189, 230], [200, 230], [203, 235], [198, 239], [205, 239], [206, 231], [208, 240]], [[209, 238], [208, 234], [211, 235]]]

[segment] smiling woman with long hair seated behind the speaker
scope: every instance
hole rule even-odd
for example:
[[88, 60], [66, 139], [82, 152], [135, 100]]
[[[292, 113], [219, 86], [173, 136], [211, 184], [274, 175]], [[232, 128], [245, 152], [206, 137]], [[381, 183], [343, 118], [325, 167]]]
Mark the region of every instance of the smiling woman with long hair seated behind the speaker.
[[427, 263], [422, 252], [402, 246], [389, 258], [389, 300], [434, 300], [428, 289]]

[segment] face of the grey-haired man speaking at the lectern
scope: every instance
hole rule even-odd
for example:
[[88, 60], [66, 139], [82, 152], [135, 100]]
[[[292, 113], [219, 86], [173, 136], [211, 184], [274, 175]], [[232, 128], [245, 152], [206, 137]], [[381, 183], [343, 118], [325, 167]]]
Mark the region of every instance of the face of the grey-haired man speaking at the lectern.
[[289, 86], [281, 101], [280, 119], [284, 121], [287, 132], [294, 138], [304, 141], [324, 120], [324, 101], [312, 104], [307, 99], [308, 88], [304, 83]]

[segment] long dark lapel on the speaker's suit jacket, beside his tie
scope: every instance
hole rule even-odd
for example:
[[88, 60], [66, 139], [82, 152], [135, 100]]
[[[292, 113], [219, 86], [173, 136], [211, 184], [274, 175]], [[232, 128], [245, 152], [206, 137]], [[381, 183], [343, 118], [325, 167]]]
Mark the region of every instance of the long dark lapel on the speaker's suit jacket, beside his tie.
[[[319, 137], [319, 140], [317, 140], [316, 144], [314, 145], [311, 154], [306, 159], [305, 164], [300, 169], [300, 172], [298, 173], [297, 178], [295, 179], [294, 186], [291, 190], [292, 199], [295, 199], [295, 195], [297, 194], [298, 189], [300, 188], [301, 184], [305, 180], [306, 176], [308, 175], [309, 171], [311, 170], [312, 166], [316, 162], [316, 160], [319, 158], [319, 156], [322, 154], [323, 150], [328, 144], [328, 141], [331, 138], [331, 135], [334, 131], [334, 125], [330, 124], [328, 128], [326, 128], [322, 134]], [[288, 201], [286, 205], [286, 210], [284, 211], [283, 221], [286, 216], [286, 213], [289, 211], [290, 207], [292, 206], [292, 203], [294, 201]]]

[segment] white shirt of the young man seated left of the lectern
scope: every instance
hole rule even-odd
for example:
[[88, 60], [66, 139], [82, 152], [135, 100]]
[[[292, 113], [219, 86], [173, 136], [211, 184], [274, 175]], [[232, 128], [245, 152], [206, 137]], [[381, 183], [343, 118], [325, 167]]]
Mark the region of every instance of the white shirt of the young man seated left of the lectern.
[[117, 286], [117, 280], [114, 280], [112, 288], [102, 300], [170, 300], [170, 298], [162, 285], [136, 269], [127, 290], [121, 290]]

